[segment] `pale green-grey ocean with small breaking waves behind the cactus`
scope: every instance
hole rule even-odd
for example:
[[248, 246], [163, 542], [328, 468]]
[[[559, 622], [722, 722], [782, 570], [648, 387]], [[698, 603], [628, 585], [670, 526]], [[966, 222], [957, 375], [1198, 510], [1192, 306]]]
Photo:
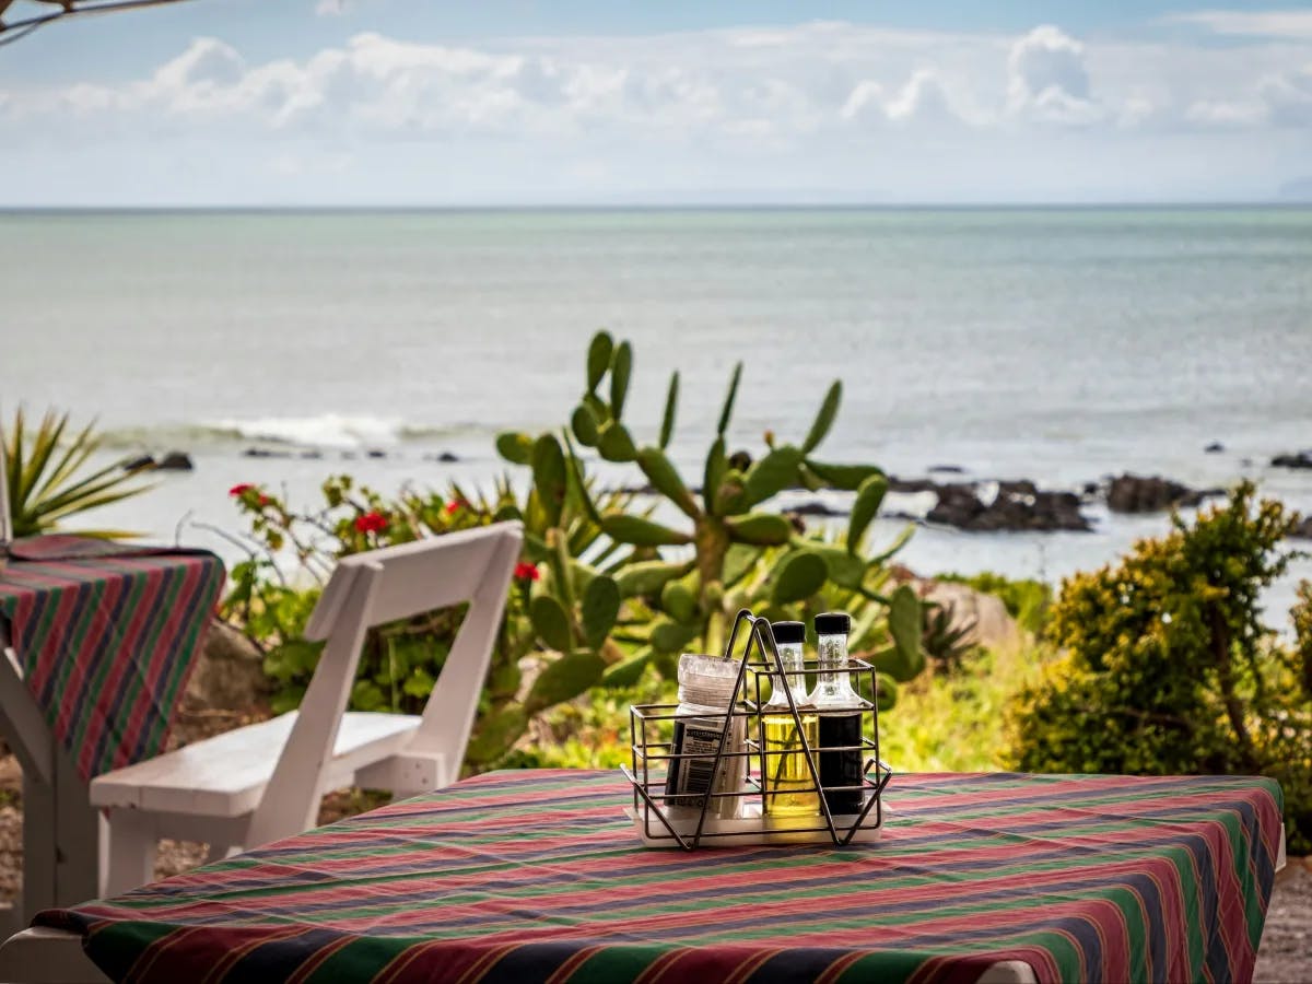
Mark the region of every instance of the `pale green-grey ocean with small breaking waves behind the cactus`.
[[[207, 527], [241, 529], [239, 482], [303, 504], [340, 471], [488, 483], [499, 430], [568, 419], [602, 327], [634, 344], [639, 438], [681, 371], [693, 476], [743, 359], [749, 450], [799, 440], [841, 378], [825, 459], [1050, 488], [1249, 476], [1312, 510], [1312, 472], [1269, 467], [1312, 446], [1312, 209], [8, 213], [0, 297], [0, 413], [52, 405], [115, 454], [195, 462], [88, 522], [230, 559]], [[901, 559], [1056, 580], [1168, 527], [1086, 512], [1094, 533], [925, 527]]]

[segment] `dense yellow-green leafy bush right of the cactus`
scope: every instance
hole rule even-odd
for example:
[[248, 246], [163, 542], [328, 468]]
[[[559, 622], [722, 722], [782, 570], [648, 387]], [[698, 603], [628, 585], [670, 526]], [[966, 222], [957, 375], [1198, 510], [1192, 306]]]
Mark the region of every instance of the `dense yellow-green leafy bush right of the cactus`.
[[1296, 647], [1261, 619], [1296, 516], [1240, 485], [1223, 506], [1068, 579], [1048, 638], [1061, 656], [1009, 715], [1026, 771], [1277, 778], [1290, 849], [1312, 848], [1312, 597]]

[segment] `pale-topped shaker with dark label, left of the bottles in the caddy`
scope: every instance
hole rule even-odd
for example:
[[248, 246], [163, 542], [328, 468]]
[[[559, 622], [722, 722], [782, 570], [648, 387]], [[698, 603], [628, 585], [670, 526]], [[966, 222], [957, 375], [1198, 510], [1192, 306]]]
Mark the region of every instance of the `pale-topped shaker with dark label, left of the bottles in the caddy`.
[[[737, 660], [694, 653], [678, 657], [678, 707], [674, 708], [674, 741], [670, 748], [674, 757], [669, 760], [665, 778], [665, 806], [674, 812], [701, 812], [708, 794], [743, 791], [748, 762], [743, 754], [747, 728], [741, 716], [731, 716], [729, 707], [737, 672]], [[715, 753], [726, 727], [729, 736], [720, 766], [715, 769]], [[712, 796], [706, 813], [733, 819], [739, 815], [741, 799]]]

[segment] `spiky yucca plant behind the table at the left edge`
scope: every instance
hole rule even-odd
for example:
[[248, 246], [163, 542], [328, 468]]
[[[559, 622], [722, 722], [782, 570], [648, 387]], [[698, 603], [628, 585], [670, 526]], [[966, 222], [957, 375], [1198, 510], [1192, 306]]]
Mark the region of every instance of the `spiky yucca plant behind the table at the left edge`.
[[[41, 422], [29, 428], [20, 407], [13, 415], [13, 425], [0, 429], [14, 537], [51, 533], [77, 513], [151, 488], [138, 480], [138, 474], [150, 466], [129, 468], [123, 461], [115, 461], [98, 468], [88, 467], [102, 445], [94, 433], [96, 424], [92, 421], [81, 430], [72, 430], [68, 417], [68, 413], [46, 411]], [[79, 533], [104, 539], [134, 535], [122, 530]]]

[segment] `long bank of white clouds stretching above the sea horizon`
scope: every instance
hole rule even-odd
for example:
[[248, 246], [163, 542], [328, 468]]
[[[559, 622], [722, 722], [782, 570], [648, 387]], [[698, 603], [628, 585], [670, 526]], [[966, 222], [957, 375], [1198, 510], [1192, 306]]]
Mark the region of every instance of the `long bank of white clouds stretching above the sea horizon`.
[[42, 148], [109, 159], [148, 146], [161, 161], [228, 161], [252, 188], [354, 176], [354, 188], [412, 199], [426, 199], [434, 173], [443, 189], [521, 198], [680, 186], [1006, 197], [1060, 188], [1072, 160], [1089, 169], [1081, 189], [1126, 181], [1128, 159], [1147, 161], [1135, 181], [1172, 193], [1173, 169], [1199, 154], [1229, 155], [1228, 173], [1275, 167], [1260, 134], [1281, 134], [1290, 160], [1312, 156], [1309, 122], [1312, 46], [1287, 38], [832, 22], [453, 45], [361, 33], [262, 62], [198, 38], [135, 81], [0, 85], [0, 186], [45, 186], [33, 174], [58, 169], [26, 156]]

